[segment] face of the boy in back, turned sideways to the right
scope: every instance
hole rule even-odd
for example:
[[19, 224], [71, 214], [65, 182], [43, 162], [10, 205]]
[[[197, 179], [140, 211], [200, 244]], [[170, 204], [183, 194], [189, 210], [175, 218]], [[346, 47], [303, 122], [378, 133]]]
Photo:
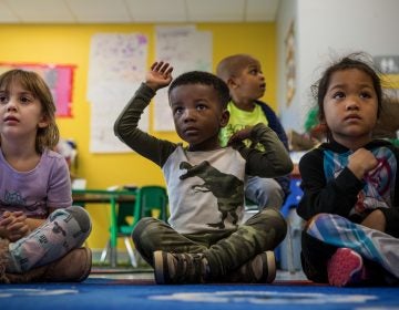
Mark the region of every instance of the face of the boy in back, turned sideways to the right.
[[228, 84], [234, 97], [239, 101], [255, 101], [262, 97], [266, 91], [266, 82], [260, 63], [253, 61]]

